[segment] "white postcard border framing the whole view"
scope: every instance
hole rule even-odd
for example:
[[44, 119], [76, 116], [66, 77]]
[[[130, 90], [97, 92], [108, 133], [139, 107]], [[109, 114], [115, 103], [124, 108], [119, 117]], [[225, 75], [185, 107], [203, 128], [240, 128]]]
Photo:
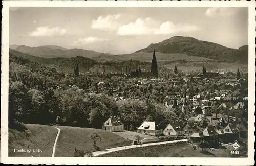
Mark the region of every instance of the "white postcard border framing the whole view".
[[[248, 7], [248, 158], [114, 158], [8, 157], [9, 7]], [[255, 110], [255, 2], [254, 1], [3, 1], [1, 68], [1, 163], [89, 165], [253, 165]], [[221, 37], [221, 36], [220, 36]]]

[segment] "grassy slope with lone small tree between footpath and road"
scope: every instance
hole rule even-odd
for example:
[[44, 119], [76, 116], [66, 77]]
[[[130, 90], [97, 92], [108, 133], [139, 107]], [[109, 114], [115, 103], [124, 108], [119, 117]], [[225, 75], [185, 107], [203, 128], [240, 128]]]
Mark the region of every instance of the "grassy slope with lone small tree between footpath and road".
[[[67, 126], [57, 127], [61, 129], [55, 152], [57, 157], [73, 157], [75, 148], [94, 152], [100, 149], [104, 150], [124, 146], [124, 142], [127, 141], [114, 133], [100, 129]], [[94, 132], [97, 132], [101, 136], [101, 142], [96, 144], [98, 149], [93, 147], [93, 141], [90, 139], [90, 134]]]

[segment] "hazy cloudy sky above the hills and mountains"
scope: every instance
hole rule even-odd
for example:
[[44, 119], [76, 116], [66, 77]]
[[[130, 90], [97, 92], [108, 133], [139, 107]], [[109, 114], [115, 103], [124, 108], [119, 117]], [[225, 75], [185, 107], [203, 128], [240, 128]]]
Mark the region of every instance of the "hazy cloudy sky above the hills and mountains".
[[248, 8], [10, 8], [10, 44], [132, 53], [173, 36], [248, 44]]

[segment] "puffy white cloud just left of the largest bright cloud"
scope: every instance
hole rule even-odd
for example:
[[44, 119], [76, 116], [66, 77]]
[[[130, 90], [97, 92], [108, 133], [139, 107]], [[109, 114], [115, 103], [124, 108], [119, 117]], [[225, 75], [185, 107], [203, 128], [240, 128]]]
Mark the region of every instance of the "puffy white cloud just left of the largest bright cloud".
[[113, 31], [120, 27], [118, 19], [120, 14], [108, 15], [108, 16], [99, 16], [98, 19], [92, 21], [92, 28], [98, 30], [108, 30]]

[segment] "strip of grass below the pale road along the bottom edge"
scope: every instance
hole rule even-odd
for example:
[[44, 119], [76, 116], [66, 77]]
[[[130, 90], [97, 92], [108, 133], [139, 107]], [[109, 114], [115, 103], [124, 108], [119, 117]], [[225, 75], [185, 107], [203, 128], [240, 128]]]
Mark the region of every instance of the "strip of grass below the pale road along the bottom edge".
[[228, 157], [229, 152], [228, 149], [213, 149], [210, 152], [202, 152], [201, 148], [194, 150], [187, 143], [174, 143], [121, 150], [100, 157], [174, 157], [174, 153], [178, 154], [176, 157]]

